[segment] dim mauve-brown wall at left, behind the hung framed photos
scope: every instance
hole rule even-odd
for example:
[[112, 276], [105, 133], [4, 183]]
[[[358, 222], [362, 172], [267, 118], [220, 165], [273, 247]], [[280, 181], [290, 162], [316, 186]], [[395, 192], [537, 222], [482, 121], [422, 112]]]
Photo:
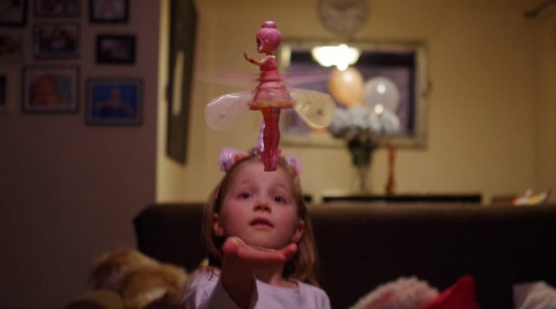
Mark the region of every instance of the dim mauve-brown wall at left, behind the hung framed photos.
[[[33, 3], [33, 1], [30, 1]], [[130, 1], [128, 24], [90, 24], [84, 4], [81, 56], [33, 59], [29, 8], [24, 60], [1, 63], [9, 74], [8, 112], [0, 114], [0, 308], [61, 308], [85, 290], [95, 257], [135, 247], [131, 220], [155, 200], [159, 17], [157, 1]], [[83, 1], [88, 3], [88, 1]], [[45, 19], [41, 19], [45, 20]], [[58, 21], [58, 19], [49, 19]], [[137, 35], [133, 66], [96, 65], [97, 33]], [[22, 114], [22, 65], [79, 65], [79, 112]], [[145, 114], [139, 127], [85, 125], [85, 79], [143, 78]]]

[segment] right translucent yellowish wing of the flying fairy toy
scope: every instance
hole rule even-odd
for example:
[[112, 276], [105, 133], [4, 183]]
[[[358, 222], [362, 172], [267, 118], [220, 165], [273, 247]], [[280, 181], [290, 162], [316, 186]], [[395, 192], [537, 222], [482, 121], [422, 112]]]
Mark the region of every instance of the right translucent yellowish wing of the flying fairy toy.
[[322, 128], [334, 120], [336, 101], [328, 94], [300, 88], [294, 88], [290, 94], [295, 102], [293, 108], [310, 126]]

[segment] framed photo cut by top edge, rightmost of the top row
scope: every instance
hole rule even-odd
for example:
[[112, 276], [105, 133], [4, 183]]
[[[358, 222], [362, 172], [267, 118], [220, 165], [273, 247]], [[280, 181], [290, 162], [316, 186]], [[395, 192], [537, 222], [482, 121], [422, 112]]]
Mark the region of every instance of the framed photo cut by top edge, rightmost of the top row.
[[129, 0], [89, 0], [92, 23], [126, 23], [129, 20]]

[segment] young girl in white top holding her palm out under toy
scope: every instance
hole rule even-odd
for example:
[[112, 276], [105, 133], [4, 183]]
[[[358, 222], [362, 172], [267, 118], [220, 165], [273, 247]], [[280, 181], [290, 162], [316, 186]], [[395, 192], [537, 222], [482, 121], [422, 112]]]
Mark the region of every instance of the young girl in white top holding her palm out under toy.
[[264, 172], [258, 156], [229, 166], [204, 220], [213, 265], [186, 289], [193, 308], [329, 309], [316, 287], [316, 245], [297, 170], [280, 157]]

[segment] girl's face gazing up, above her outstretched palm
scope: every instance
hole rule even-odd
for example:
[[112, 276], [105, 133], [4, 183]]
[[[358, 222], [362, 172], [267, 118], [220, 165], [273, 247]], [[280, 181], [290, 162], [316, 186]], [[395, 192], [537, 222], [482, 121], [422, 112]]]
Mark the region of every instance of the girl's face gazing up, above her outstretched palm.
[[246, 244], [281, 249], [299, 242], [304, 224], [297, 216], [291, 176], [279, 167], [263, 172], [260, 161], [245, 162], [214, 214], [218, 237], [240, 237]]

